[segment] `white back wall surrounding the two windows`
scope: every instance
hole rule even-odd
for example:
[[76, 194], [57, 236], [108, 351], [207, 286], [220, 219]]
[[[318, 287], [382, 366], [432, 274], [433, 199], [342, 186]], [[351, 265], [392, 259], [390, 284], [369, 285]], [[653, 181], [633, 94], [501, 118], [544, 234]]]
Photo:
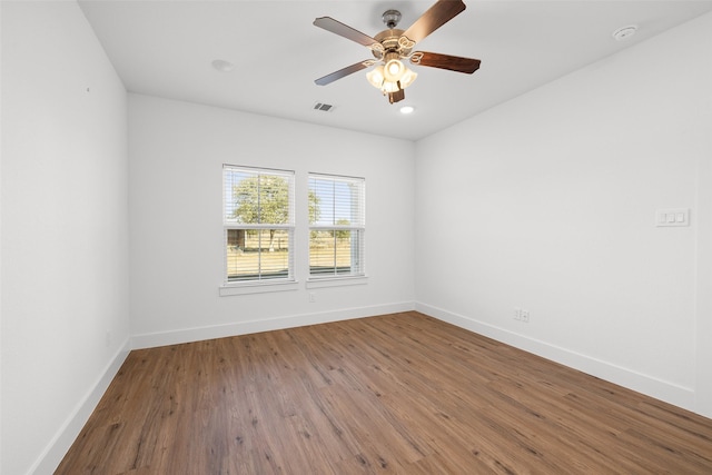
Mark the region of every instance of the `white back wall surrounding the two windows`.
[[[135, 347], [413, 308], [413, 142], [129, 95], [129, 156]], [[296, 171], [297, 290], [218, 295], [222, 164]], [[366, 178], [367, 285], [305, 287], [309, 171]]]

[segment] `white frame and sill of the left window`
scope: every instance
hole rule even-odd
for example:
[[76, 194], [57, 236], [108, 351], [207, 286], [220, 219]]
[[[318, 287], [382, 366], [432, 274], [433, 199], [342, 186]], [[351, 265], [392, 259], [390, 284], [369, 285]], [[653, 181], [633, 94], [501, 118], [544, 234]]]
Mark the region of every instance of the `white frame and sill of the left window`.
[[[287, 222], [240, 222], [237, 217], [230, 217], [230, 202], [231, 187], [234, 181], [230, 177], [230, 172], [239, 172], [253, 177], [259, 176], [276, 176], [287, 179], [289, 187], [288, 199], [288, 218]], [[236, 165], [222, 165], [222, 285], [220, 286], [220, 295], [240, 295], [240, 294], [255, 294], [265, 291], [279, 291], [279, 290], [296, 290], [297, 280], [295, 278], [295, 172], [294, 170], [279, 170], [270, 168], [256, 168], [245, 167]], [[259, 192], [258, 192], [259, 196]], [[244, 229], [244, 230], [257, 230], [265, 231], [271, 229], [283, 229], [288, 235], [288, 256], [287, 256], [287, 275], [284, 277], [269, 276], [268, 273], [261, 274], [261, 249], [258, 251], [259, 265], [257, 267], [256, 278], [246, 279], [230, 279], [229, 276], [229, 263], [228, 263], [228, 231], [230, 229]]]

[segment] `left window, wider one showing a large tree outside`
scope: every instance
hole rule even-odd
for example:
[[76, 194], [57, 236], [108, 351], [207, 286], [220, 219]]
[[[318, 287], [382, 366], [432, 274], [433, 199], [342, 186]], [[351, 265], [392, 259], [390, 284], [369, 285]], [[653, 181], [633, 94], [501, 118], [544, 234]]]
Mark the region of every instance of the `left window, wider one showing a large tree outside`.
[[294, 172], [222, 166], [225, 281], [294, 280]]

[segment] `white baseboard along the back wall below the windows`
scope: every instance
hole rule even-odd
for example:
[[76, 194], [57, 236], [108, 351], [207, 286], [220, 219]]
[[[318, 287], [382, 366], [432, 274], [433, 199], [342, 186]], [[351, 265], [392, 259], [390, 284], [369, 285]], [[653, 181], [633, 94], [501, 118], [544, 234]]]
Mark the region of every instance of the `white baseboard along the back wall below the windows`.
[[370, 307], [346, 308], [340, 310], [322, 311], [305, 315], [289, 315], [276, 318], [260, 318], [256, 320], [238, 321], [227, 325], [209, 327], [185, 328], [171, 331], [135, 335], [131, 348], [154, 348], [157, 346], [176, 345], [180, 343], [200, 342], [204, 339], [224, 338], [235, 335], [247, 335], [258, 331], [270, 331], [284, 328], [295, 328], [305, 325], [325, 324], [328, 321], [348, 320], [352, 318], [370, 317], [374, 315], [395, 314], [413, 310], [413, 301], [375, 305]]

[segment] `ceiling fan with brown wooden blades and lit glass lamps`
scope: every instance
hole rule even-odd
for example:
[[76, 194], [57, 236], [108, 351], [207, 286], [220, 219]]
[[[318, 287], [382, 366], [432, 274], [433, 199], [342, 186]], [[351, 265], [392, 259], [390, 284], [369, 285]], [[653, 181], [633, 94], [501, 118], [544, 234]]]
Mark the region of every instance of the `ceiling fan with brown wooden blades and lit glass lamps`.
[[315, 26], [365, 46], [370, 49], [375, 59], [367, 59], [347, 66], [314, 82], [319, 86], [326, 86], [356, 71], [376, 66], [366, 75], [366, 78], [372, 86], [380, 89], [384, 96], [388, 96], [390, 103], [394, 103], [405, 99], [404, 89], [411, 86], [417, 77], [417, 73], [409, 70], [402, 60], [408, 59], [412, 65], [416, 66], [427, 66], [472, 75], [479, 68], [478, 59], [413, 51], [417, 42], [447, 23], [463, 10], [465, 10], [465, 3], [462, 0], [438, 0], [407, 30], [396, 28], [400, 21], [400, 12], [398, 10], [386, 10], [382, 18], [387, 29], [374, 38], [330, 17], [317, 18], [314, 20]]

